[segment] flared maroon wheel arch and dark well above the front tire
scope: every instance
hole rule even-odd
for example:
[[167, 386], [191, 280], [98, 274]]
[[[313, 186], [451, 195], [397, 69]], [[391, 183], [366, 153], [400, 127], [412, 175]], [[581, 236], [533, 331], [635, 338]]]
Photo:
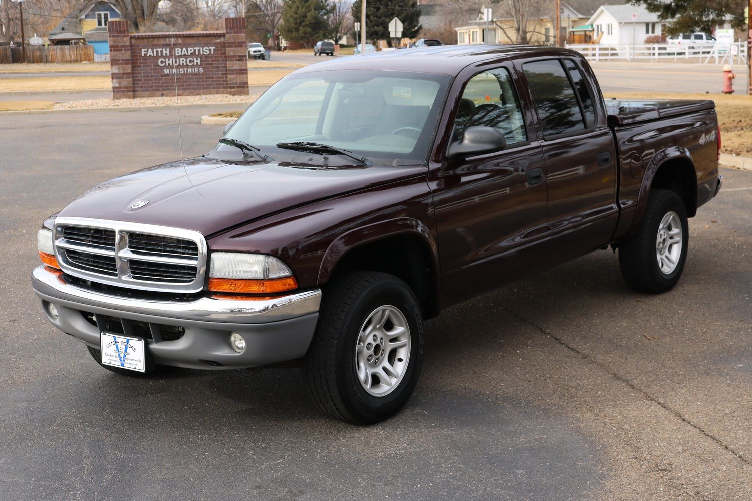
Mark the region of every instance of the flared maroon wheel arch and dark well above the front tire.
[[[394, 259], [396, 256], [401, 259]], [[438, 246], [432, 232], [420, 221], [387, 220], [340, 235], [324, 254], [318, 283], [326, 284], [353, 271], [386, 272], [401, 278], [413, 290], [424, 318], [438, 314]]]

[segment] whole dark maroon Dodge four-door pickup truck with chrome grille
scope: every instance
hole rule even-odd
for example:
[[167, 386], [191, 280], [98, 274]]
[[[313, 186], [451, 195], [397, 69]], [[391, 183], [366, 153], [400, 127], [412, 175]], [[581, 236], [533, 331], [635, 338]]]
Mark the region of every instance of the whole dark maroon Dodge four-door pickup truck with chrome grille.
[[607, 103], [572, 50], [338, 58], [44, 221], [32, 284], [105, 369], [296, 361], [324, 412], [373, 423], [414, 390], [426, 319], [542, 263], [611, 246], [633, 289], [674, 287], [719, 150], [713, 102]]

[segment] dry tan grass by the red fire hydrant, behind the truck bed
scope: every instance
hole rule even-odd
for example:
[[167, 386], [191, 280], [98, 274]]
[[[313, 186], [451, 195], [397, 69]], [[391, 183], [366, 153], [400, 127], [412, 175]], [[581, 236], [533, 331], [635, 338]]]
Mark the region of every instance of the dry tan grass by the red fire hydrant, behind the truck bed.
[[712, 99], [720, 123], [723, 153], [752, 156], [752, 96], [691, 93], [605, 93], [605, 99]]

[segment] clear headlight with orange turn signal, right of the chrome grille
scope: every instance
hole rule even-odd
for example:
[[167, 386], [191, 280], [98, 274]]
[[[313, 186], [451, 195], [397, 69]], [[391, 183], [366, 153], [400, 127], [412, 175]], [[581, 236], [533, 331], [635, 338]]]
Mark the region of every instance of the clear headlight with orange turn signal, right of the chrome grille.
[[298, 287], [285, 263], [265, 254], [214, 252], [209, 290], [225, 293], [277, 293]]

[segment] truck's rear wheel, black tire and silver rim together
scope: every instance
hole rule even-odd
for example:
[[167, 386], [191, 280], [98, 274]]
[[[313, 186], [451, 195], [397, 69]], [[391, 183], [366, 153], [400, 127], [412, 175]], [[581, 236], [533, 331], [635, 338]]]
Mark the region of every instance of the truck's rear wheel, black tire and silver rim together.
[[684, 271], [689, 246], [687, 211], [669, 190], [651, 190], [640, 231], [619, 244], [619, 265], [626, 284], [645, 293], [663, 293]]

